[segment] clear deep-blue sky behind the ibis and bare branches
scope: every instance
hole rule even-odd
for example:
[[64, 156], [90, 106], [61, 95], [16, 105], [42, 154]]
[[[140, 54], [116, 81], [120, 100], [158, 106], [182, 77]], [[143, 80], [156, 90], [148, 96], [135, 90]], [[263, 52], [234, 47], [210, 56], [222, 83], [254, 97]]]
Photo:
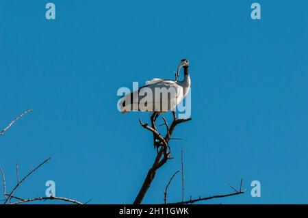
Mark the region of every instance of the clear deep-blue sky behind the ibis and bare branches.
[[[0, 137], [8, 189], [42, 160], [52, 161], [18, 191], [96, 204], [133, 202], [153, 163], [152, 136], [122, 115], [118, 87], [174, 78], [190, 59], [192, 121], [172, 141], [174, 160], [157, 172], [144, 203], [162, 203], [170, 176], [185, 161], [185, 198], [245, 195], [205, 203], [308, 202], [308, 2], [0, 1], [0, 127], [34, 109]], [[168, 116], [170, 119], [170, 117]], [[162, 122], [160, 120], [159, 122]], [[250, 195], [252, 180], [261, 197]], [[1, 189], [2, 191], [2, 189]], [[181, 200], [181, 177], [169, 189]]]

